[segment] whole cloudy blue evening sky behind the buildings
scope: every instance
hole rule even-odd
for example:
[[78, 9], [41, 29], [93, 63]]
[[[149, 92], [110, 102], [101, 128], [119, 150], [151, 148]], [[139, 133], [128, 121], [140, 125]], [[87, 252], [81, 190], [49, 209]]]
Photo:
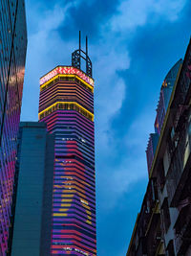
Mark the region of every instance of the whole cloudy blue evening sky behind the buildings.
[[[189, 0], [27, 0], [21, 119], [36, 121], [39, 78], [89, 36], [96, 81], [97, 255], [125, 255], [146, 183], [160, 85], [191, 35]], [[85, 45], [83, 45], [85, 46]]]

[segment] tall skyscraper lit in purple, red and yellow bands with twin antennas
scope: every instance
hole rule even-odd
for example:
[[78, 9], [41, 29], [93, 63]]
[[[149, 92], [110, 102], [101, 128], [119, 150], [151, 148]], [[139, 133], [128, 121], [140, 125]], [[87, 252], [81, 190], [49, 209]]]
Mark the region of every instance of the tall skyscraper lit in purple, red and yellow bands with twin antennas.
[[96, 255], [94, 80], [80, 33], [72, 66], [40, 79], [39, 121], [55, 136], [51, 255]]

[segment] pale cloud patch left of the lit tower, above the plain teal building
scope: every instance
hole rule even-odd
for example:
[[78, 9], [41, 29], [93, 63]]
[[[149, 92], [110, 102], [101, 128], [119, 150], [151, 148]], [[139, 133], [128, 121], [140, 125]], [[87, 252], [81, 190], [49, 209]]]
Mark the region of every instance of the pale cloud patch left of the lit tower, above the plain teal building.
[[33, 5], [32, 2], [27, 2], [28, 53], [21, 111], [22, 120], [37, 120], [39, 79], [61, 61], [64, 56], [64, 54], [60, 55], [63, 52], [62, 49], [68, 52], [67, 48], [72, 47], [72, 45], [64, 43], [56, 33], [58, 26], [64, 22], [70, 6], [70, 3], [56, 4], [52, 10], [41, 10], [39, 4]]

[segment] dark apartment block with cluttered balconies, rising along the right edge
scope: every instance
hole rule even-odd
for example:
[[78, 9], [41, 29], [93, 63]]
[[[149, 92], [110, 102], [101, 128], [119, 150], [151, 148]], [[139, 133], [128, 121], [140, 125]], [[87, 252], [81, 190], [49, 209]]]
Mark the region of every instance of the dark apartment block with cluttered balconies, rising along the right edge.
[[159, 140], [127, 256], [191, 255], [191, 41], [177, 73], [164, 114], [159, 99]]

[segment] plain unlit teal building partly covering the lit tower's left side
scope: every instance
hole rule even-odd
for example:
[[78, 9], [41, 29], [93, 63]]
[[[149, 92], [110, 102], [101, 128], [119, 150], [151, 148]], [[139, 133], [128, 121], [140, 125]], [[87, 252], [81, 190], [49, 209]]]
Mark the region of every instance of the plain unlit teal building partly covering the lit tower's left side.
[[51, 255], [53, 146], [46, 124], [20, 124], [11, 256]]

